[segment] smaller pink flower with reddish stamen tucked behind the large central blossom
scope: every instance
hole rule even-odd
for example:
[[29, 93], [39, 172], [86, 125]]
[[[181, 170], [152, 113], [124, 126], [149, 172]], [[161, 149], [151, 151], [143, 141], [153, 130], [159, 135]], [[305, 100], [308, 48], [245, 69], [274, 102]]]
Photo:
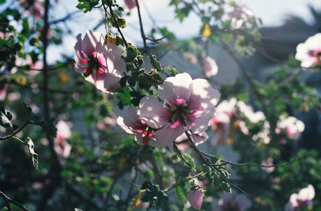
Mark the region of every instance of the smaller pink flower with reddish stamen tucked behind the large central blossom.
[[143, 120], [139, 119], [141, 110], [139, 108], [129, 107], [128, 116], [119, 116], [117, 124], [129, 134], [135, 134], [135, 141], [142, 145], [151, 145], [160, 147], [161, 145], [155, 139], [155, 131], [157, 129], [149, 127]]

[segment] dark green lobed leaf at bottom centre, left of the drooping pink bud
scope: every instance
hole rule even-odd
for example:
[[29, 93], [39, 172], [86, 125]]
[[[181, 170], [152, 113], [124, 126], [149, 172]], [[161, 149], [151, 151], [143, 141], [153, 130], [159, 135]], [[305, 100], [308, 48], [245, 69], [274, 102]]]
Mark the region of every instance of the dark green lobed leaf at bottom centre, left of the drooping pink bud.
[[150, 181], [144, 182], [140, 190], [145, 190], [142, 197], [144, 202], [151, 203], [156, 201], [156, 206], [162, 206], [168, 201], [168, 196]]

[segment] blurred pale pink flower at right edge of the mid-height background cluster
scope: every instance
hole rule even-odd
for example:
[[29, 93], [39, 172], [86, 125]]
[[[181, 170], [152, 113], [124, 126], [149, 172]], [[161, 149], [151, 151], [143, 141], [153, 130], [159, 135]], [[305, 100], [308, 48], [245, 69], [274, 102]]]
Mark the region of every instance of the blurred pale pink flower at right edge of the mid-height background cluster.
[[288, 138], [297, 140], [303, 132], [304, 127], [304, 123], [301, 120], [295, 117], [285, 118], [281, 115], [279, 117], [279, 121], [277, 122], [275, 133], [280, 134], [282, 131], [284, 131]]

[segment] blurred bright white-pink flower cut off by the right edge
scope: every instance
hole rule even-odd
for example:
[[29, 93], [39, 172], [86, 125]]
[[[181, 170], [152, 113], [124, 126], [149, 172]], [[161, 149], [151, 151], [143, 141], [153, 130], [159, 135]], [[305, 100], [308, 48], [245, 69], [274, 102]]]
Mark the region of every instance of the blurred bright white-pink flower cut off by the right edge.
[[309, 68], [321, 65], [321, 33], [309, 37], [297, 46], [295, 59], [301, 61], [301, 67]]

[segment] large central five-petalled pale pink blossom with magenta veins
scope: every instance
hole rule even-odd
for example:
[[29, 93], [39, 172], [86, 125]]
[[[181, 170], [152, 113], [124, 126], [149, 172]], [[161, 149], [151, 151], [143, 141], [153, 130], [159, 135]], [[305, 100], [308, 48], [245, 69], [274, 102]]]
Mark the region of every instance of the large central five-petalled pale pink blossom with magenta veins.
[[140, 101], [140, 119], [153, 128], [160, 128], [166, 122], [171, 124], [155, 132], [161, 146], [169, 145], [187, 130], [201, 133], [210, 125], [215, 115], [215, 105], [220, 93], [204, 79], [192, 80], [187, 73], [168, 77], [158, 86], [159, 98], [145, 96]]

